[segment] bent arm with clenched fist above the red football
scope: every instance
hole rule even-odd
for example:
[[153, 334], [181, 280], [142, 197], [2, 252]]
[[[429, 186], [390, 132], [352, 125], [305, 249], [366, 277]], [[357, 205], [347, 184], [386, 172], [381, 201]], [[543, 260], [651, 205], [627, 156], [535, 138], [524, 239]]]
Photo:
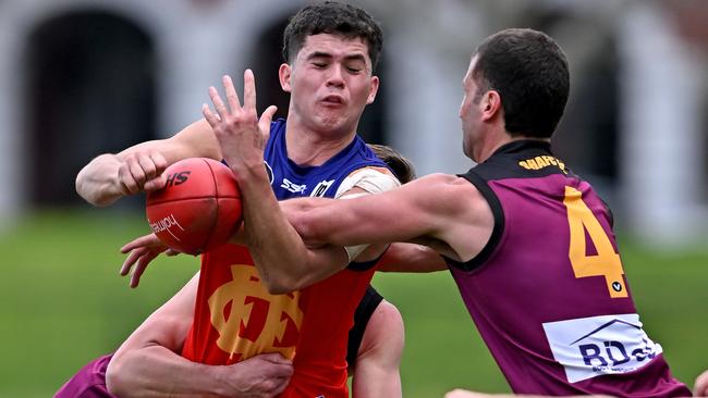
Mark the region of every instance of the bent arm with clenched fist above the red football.
[[76, 192], [94, 206], [106, 207], [122, 196], [162, 188], [166, 184], [162, 172], [167, 166], [196, 157], [221, 160], [211, 127], [204, 120], [170, 138], [95, 158], [78, 172]]

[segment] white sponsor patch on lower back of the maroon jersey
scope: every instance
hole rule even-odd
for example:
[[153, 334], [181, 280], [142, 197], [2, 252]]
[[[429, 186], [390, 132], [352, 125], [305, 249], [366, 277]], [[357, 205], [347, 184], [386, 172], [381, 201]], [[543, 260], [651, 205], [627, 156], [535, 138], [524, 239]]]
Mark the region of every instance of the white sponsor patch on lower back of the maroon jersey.
[[565, 368], [571, 383], [632, 372], [662, 352], [635, 313], [547, 322], [544, 331], [553, 358]]

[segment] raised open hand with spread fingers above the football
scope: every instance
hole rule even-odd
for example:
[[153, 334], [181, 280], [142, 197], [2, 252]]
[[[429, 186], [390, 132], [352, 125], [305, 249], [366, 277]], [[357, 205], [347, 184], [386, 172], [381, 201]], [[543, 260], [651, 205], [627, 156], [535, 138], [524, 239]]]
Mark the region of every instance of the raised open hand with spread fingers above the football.
[[236, 174], [242, 177], [247, 172], [264, 173], [264, 150], [270, 136], [270, 122], [277, 111], [274, 105], [268, 107], [258, 119], [256, 113], [256, 83], [251, 70], [243, 75], [243, 105], [233, 86], [231, 77], [222, 79], [227, 103], [219, 91], [209, 87], [209, 97], [213, 102], [215, 114], [208, 104], [202, 107], [202, 113], [211, 126], [223, 158]]

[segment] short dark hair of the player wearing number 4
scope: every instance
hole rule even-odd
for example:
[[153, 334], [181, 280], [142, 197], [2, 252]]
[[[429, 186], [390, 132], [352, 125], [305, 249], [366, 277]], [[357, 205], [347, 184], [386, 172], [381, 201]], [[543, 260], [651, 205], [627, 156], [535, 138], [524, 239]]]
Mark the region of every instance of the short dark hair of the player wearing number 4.
[[567, 60], [558, 43], [541, 32], [504, 29], [486, 38], [476, 55], [473, 76], [480, 90], [501, 96], [506, 132], [549, 138], [570, 90]]

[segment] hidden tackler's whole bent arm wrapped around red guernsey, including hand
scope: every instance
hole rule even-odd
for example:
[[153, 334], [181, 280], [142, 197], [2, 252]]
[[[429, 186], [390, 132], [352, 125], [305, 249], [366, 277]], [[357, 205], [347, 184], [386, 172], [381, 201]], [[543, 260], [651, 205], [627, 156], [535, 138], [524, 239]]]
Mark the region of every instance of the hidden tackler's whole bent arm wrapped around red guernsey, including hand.
[[106, 374], [109, 390], [121, 397], [273, 397], [292, 375], [278, 353], [233, 365], [192, 362], [182, 350], [193, 320], [198, 274], [152, 313], [113, 356]]

